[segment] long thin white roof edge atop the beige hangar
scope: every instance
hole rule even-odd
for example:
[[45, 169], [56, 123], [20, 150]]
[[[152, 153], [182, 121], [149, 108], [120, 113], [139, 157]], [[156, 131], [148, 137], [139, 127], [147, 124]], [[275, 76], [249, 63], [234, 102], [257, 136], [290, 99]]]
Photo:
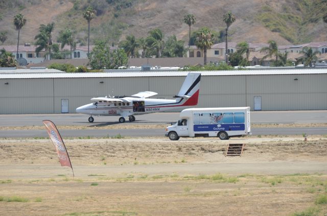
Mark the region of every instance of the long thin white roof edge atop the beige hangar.
[[327, 74], [327, 69], [268, 69], [268, 70], [218, 70], [218, 71], [150, 71], [119, 73], [37, 73], [1, 74], [0, 79], [41, 79], [41, 78], [106, 78], [106, 77], [179, 77], [188, 73], [201, 73], [202, 76], [238, 75], [292, 75]]

